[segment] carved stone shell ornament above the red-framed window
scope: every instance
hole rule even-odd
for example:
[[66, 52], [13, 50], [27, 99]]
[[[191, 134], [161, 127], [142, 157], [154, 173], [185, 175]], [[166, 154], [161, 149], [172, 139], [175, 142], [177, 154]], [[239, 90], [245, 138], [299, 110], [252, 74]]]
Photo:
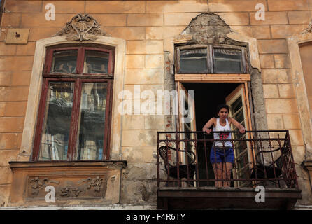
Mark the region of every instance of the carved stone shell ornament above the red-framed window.
[[108, 36], [89, 14], [77, 14], [54, 36], [66, 36], [67, 41], [94, 41], [98, 36]]

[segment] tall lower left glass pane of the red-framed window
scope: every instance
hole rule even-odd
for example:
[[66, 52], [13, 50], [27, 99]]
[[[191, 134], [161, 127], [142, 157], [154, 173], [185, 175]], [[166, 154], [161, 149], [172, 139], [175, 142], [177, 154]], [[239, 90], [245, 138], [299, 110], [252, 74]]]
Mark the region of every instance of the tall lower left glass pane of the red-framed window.
[[66, 160], [74, 83], [50, 82], [39, 160]]

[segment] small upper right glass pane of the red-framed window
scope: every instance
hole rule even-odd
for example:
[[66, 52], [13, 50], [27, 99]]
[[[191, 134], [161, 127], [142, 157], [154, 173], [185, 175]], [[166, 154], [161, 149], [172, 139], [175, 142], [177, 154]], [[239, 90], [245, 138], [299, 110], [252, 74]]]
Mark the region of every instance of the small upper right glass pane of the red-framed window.
[[83, 73], [108, 73], [108, 52], [85, 51]]

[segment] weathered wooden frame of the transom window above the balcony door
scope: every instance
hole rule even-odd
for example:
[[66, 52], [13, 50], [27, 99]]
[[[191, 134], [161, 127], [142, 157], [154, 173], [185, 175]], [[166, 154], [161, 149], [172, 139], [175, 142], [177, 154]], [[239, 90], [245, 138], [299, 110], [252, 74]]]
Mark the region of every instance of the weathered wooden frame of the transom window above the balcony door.
[[[175, 66], [175, 73], [176, 74], [183, 74], [179, 73], [180, 70], [180, 50], [194, 50], [194, 49], [206, 49], [207, 50], [207, 74], [226, 74], [226, 73], [215, 73], [215, 64], [214, 64], [214, 49], [215, 48], [223, 48], [223, 49], [232, 49], [232, 50], [241, 50], [241, 68], [242, 72], [241, 74], [247, 74], [248, 73], [248, 59], [247, 59], [247, 52], [246, 47], [241, 46], [234, 46], [234, 45], [226, 45], [226, 44], [214, 44], [214, 45], [200, 45], [200, 44], [194, 44], [194, 45], [184, 45], [184, 46], [177, 46], [176, 51], [176, 66]], [[189, 73], [187, 73], [189, 74]], [[204, 74], [204, 73], [197, 73], [197, 74]], [[239, 74], [239, 73], [233, 73], [233, 74]]]

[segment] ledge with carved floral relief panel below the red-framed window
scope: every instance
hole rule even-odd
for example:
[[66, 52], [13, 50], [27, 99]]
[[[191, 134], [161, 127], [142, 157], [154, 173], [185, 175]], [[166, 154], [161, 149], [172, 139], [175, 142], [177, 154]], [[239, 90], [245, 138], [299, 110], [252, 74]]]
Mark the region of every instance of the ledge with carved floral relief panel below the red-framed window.
[[[105, 205], [120, 200], [121, 171], [126, 160], [11, 161], [11, 207], [50, 205]], [[55, 202], [45, 197], [55, 191]], [[52, 187], [51, 187], [52, 186]]]

